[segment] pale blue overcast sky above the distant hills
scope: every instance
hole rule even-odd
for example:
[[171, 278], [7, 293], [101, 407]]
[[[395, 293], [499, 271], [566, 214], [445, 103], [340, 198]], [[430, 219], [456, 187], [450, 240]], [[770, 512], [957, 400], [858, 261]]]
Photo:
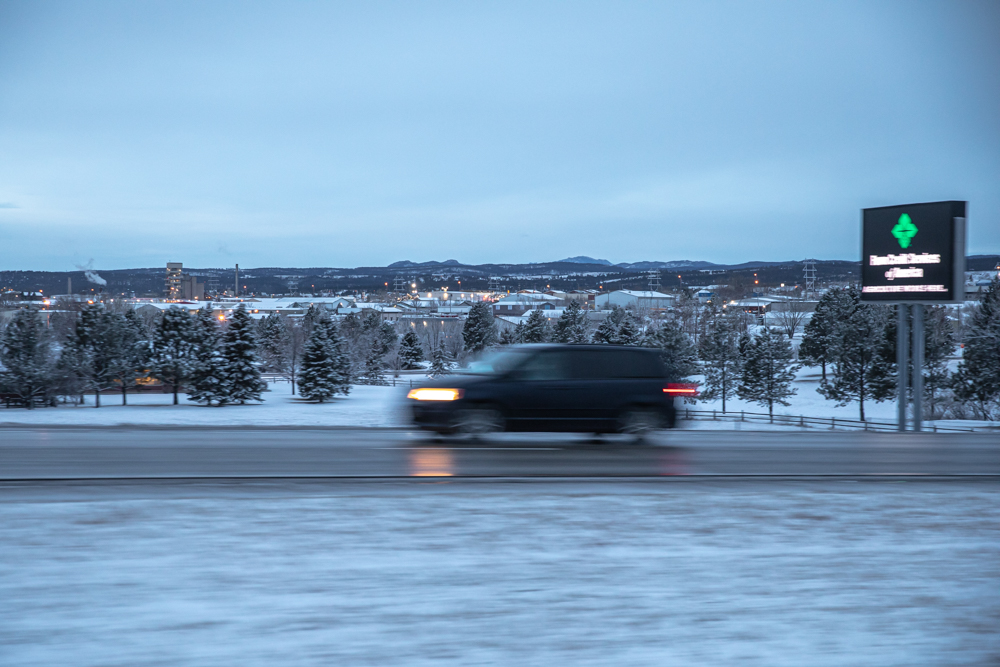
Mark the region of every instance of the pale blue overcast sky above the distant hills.
[[1000, 3], [7, 2], [0, 270], [1000, 253]]

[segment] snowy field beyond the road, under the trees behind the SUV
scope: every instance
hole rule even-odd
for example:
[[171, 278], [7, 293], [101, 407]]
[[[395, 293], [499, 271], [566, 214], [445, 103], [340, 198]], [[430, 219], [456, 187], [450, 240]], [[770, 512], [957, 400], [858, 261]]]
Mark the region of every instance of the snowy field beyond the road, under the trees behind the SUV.
[[[797, 395], [789, 399], [789, 407], [776, 406], [776, 415], [805, 415], [807, 417], [836, 417], [838, 419], [858, 419], [856, 404], [838, 408], [816, 393], [819, 373], [812, 369], [798, 372], [794, 383]], [[369, 387], [355, 385], [347, 397], [339, 397], [332, 402], [318, 404], [299, 400], [291, 395], [291, 385], [286, 382], [272, 383], [264, 393], [264, 402], [253, 405], [227, 405], [223, 408], [206, 408], [187, 401], [181, 396], [181, 404], [173, 405], [172, 394], [130, 395], [129, 405], [121, 405], [121, 397], [102, 395], [101, 407], [94, 408], [94, 397], [87, 396], [87, 405], [61, 405], [57, 408], [4, 409], [0, 407], [0, 426], [5, 425], [75, 425], [75, 426], [360, 426], [399, 427], [406, 425], [403, 415], [407, 382], [404, 378], [397, 387]], [[417, 377], [412, 377], [416, 381]], [[691, 405], [678, 403], [683, 409], [722, 410], [721, 401], [698, 401]], [[738, 399], [726, 402], [728, 412], [766, 413], [767, 408]], [[896, 419], [896, 406], [892, 401], [866, 403], [865, 413], [869, 420], [892, 422]], [[989, 422], [939, 421], [942, 426], [987, 426]], [[739, 426], [732, 422], [691, 421], [684, 425], [691, 429], [736, 429], [743, 430], [787, 430], [788, 426], [745, 423]]]

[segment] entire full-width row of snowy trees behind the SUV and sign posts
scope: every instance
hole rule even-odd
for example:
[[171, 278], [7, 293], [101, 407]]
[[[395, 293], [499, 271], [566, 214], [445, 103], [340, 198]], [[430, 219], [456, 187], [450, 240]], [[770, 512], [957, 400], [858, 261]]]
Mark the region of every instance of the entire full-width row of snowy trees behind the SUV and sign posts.
[[[964, 359], [951, 373], [956, 323], [945, 308], [928, 308], [925, 326], [926, 402], [932, 415], [995, 418], [1000, 410], [1000, 282], [986, 290], [966, 322]], [[757, 327], [745, 314], [708, 306], [692, 336], [682, 317], [654, 320], [615, 308], [591, 327], [572, 302], [553, 324], [532, 311], [515, 328], [499, 332], [490, 305], [472, 307], [461, 331], [415, 331], [400, 336], [377, 313], [338, 322], [310, 308], [299, 320], [271, 315], [254, 323], [241, 306], [226, 322], [208, 309], [194, 316], [171, 308], [150, 327], [131, 309], [85, 306], [69, 326], [44, 326], [37, 312], [19, 311], [0, 336], [2, 391], [29, 402], [130, 388], [159, 379], [189, 390], [205, 405], [260, 400], [261, 371], [281, 374], [303, 398], [346, 395], [352, 384], [385, 384], [391, 369], [449, 372], [462, 356], [478, 356], [517, 343], [643, 345], [661, 351], [671, 377], [703, 374], [701, 395], [734, 396], [766, 406], [788, 405], [797, 368], [791, 334]], [[452, 323], [449, 323], [452, 324]], [[457, 323], [454, 323], [457, 324]], [[444, 325], [442, 324], [442, 329]], [[53, 333], [59, 332], [62, 333]], [[862, 303], [856, 288], [833, 289], [804, 328], [798, 362], [820, 369], [819, 393], [838, 405], [857, 403], [861, 419], [871, 401], [893, 398], [896, 388], [896, 315], [892, 307]]]

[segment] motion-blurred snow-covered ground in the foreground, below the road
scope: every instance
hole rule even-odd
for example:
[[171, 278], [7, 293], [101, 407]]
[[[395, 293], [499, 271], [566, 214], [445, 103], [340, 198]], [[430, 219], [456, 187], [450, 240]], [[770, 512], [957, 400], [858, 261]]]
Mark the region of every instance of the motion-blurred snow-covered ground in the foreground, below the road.
[[0, 663], [996, 665], [995, 483], [0, 487]]

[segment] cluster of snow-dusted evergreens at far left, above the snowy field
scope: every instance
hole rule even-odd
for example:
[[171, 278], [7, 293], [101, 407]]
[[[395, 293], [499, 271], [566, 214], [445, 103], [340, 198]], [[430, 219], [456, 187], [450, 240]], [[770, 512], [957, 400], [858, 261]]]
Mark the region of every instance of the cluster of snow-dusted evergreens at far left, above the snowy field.
[[192, 316], [180, 308], [163, 313], [150, 330], [134, 310], [114, 312], [85, 305], [58, 337], [38, 311], [22, 309], [0, 336], [0, 388], [30, 406], [58, 396], [118, 390], [128, 392], [149, 379], [205, 405], [261, 400], [266, 389], [257, 363], [254, 325], [241, 306], [223, 330], [208, 308]]

